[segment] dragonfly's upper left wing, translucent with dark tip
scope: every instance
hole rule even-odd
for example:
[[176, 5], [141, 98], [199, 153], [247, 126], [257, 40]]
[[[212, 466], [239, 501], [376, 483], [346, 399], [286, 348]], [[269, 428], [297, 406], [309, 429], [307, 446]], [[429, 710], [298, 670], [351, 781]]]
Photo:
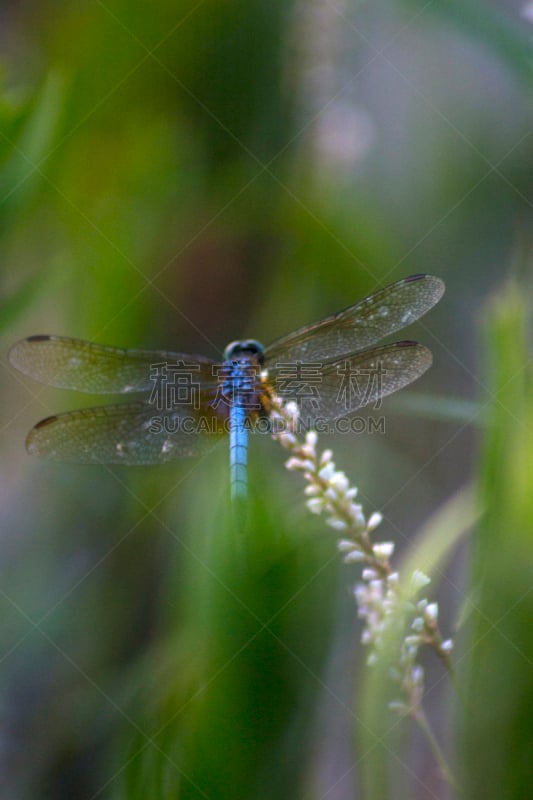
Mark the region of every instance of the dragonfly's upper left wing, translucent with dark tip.
[[[122, 350], [64, 336], [30, 336], [13, 345], [9, 360], [41, 383], [89, 394], [142, 392], [162, 378], [161, 365], [181, 365], [191, 382], [213, 384], [209, 358], [164, 350]], [[174, 373], [175, 374], [175, 373]]]

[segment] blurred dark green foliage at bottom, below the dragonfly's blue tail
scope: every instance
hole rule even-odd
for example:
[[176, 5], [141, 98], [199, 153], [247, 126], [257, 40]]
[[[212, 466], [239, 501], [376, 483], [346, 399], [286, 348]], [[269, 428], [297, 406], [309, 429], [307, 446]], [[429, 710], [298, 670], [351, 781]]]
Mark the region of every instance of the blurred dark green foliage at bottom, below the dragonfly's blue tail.
[[143, 681], [143, 706], [159, 716], [122, 753], [120, 797], [267, 798], [298, 793], [305, 777], [335, 592], [329, 537], [309, 555], [262, 498], [239, 539], [220, 508], [211, 523], [179, 591], [179, 641], [150, 659], [165, 666]]

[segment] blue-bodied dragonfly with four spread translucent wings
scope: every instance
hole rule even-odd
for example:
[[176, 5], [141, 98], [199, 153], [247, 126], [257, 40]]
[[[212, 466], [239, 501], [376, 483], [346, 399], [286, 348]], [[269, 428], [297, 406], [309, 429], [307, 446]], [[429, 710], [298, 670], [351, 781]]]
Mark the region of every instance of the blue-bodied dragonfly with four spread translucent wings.
[[430, 367], [431, 351], [414, 341], [378, 343], [443, 293], [440, 278], [411, 275], [268, 347], [231, 342], [222, 360], [30, 336], [9, 353], [25, 375], [61, 389], [138, 396], [49, 416], [32, 428], [26, 449], [55, 461], [159, 464], [203, 455], [229, 433], [231, 495], [244, 498], [249, 434], [268, 428], [273, 398], [295, 401], [312, 426], [407, 386]]

